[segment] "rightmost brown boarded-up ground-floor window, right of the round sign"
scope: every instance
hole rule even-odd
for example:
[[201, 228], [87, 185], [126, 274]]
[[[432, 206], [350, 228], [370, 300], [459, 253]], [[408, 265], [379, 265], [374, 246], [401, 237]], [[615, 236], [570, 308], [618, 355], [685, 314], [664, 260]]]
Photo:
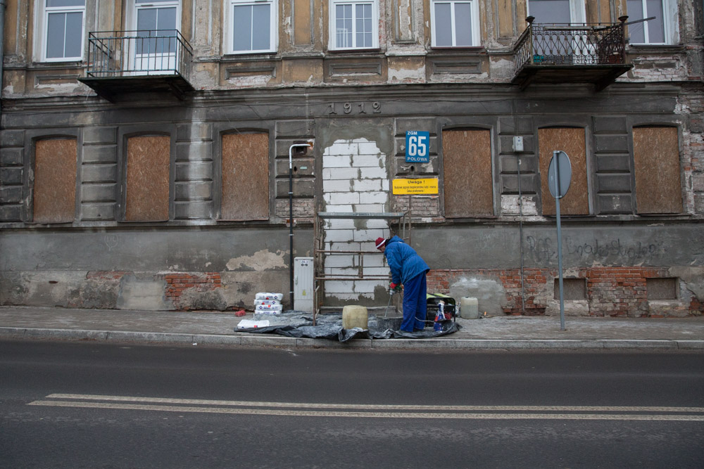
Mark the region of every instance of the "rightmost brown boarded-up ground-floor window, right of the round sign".
[[633, 129], [638, 213], [680, 213], [682, 186], [675, 127]]

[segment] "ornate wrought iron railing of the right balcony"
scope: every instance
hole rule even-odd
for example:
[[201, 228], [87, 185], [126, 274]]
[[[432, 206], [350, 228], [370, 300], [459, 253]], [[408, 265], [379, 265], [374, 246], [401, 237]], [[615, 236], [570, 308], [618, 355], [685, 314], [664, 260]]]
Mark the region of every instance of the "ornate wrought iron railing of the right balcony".
[[516, 72], [527, 65], [623, 65], [626, 63], [624, 21], [610, 25], [533, 24], [518, 38]]

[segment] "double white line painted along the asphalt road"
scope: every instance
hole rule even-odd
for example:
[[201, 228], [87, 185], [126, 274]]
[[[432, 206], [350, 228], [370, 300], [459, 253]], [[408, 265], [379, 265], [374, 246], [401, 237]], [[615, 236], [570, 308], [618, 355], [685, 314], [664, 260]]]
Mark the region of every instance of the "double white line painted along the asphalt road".
[[[46, 399], [63, 400], [39, 400], [30, 402], [28, 405], [298, 417], [704, 421], [704, 407], [315, 404], [301, 402], [220, 401], [206, 399], [170, 399], [163, 397], [101, 396], [95, 394], [49, 394]], [[269, 409], [261, 409], [263, 407]], [[702, 415], [683, 415], [683, 413], [700, 413]]]

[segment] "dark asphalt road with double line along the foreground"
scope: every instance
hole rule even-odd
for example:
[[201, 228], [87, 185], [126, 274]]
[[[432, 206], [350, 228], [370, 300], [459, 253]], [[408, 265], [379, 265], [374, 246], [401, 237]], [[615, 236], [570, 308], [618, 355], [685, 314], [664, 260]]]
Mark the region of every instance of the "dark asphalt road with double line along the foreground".
[[702, 468], [699, 352], [0, 341], [4, 468]]

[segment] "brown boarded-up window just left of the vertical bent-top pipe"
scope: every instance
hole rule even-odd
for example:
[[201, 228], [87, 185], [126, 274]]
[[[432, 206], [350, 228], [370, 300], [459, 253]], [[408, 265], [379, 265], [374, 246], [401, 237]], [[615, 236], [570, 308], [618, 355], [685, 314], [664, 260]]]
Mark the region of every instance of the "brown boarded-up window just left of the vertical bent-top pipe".
[[222, 136], [220, 218], [269, 218], [269, 134]]

